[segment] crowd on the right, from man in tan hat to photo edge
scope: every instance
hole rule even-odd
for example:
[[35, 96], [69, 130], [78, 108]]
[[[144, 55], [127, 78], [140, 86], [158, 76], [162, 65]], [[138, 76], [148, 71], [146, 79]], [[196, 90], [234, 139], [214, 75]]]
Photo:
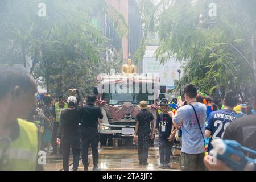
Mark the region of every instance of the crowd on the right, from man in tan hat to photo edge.
[[[181, 145], [181, 170], [230, 170], [221, 160], [213, 163], [212, 140], [221, 138], [235, 140], [242, 146], [256, 150], [256, 87], [251, 90], [251, 105], [248, 106], [248, 116], [241, 116], [241, 109], [238, 95], [229, 91], [226, 92], [221, 103], [212, 102], [209, 96], [199, 94], [193, 84], [184, 88], [184, 96], [179, 100], [176, 98], [177, 107], [173, 107], [168, 99], [160, 103], [158, 119], [155, 130], [151, 113], [147, 112], [145, 102], [138, 106], [142, 109], [137, 115], [137, 126], [134, 139], [139, 140], [139, 162], [147, 164], [148, 140], [150, 135], [159, 133], [159, 168], [170, 168], [170, 156], [172, 157], [172, 146], [180, 140]], [[172, 106], [173, 108], [171, 108]], [[246, 115], [243, 113], [243, 115]], [[239, 119], [237, 119], [240, 117]], [[151, 133], [150, 133], [151, 127]], [[141, 139], [140, 139], [141, 138]], [[255, 155], [251, 155], [255, 159]], [[255, 170], [254, 168], [251, 168]]]

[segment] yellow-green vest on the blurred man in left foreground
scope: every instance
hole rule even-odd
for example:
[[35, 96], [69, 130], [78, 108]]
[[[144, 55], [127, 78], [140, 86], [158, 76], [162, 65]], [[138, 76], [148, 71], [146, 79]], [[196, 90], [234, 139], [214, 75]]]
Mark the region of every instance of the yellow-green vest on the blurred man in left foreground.
[[[38, 157], [38, 128], [34, 123], [18, 119], [19, 137], [3, 154], [0, 170], [35, 171]], [[0, 147], [1, 150], [4, 150]]]

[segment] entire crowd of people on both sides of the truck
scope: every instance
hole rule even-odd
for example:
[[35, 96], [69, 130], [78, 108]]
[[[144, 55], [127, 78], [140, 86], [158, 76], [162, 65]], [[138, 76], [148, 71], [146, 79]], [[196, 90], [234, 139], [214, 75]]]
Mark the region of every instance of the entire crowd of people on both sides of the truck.
[[[35, 108], [37, 85], [24, 71], [14, 68], [0, 71], [0, 169], [40, 170], [38, 151], [57, 154], [57, 146], [63, 156], [63, 169], [69, 169], [70, 148], [73, 154], [73, 170], [79, 166], [80, 154], [84, 170], [88, 170], [88, 149], [92, 147], [93, 170], [98, 168], [98, 124], [103, 118], [97, 97], [88, 94], [86, 104], [77, 89], [70, 89], [77, 97], [59, 96], [57, 102], [44, 96]], [[251, 109], [244, 117], [239, 97], [233, 91], [226, 92], [221, 104], [213, 103], [209, 96], [198, 93], [195, 85], [184, 87], [184, 95], [171, 102], [163, 99], [155, 119], [146, 101], [136, 117], [134, 140], [138, 140], [139, 164], [147, 165], [150, 140], [159, 137], [159, 168], [170, 168], [173, 145], [181, 146], [181, 170], [232, 169], [225, 162], [213, 164], [212, 140], [216, 138], [235, 140], [242, 146], [256, 150], [256, 87], [251, 92]], [[31, 108], [34, 109], [31, 111]], [[22, 119], [21, 119], [22, 118]], [[37, 123], [39, 128], [26, 121]], [[156, 121], [155, 121], [156, 120]], [[207, 146], [207, 147], [205, 147]], [[12, 152], [10, 152], [12, 151]], [[16, 154], [16, 155], [15, 155]], [[246, 154], [245, 154], [246, 155]], [[255, 155], [250, 158], [255, 159]], [[254, 167], [255, 169], [255, 167]]]

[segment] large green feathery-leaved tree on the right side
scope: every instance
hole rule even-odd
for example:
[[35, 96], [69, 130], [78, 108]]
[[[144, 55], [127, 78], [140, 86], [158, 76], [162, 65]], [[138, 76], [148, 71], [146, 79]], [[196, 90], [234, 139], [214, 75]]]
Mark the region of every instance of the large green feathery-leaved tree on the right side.
[[[165, 2], [152, 7], [150, 15], [143, 7], [139, 8], [147, 17], [156, 14], [153, 28], [159, 36], [156, 59], [164, 63], [170, 56], [176, 56], [177, 60], [185, 61], [183, 85], [192, 82], [209, 94], [219, 89], [223, 95], [225, 90], [232, 89], [242, 98], [242, 92], [247, 95], [247, 90], [255, 84], [256, 2]], [[210, 3], [216, 4], [216, 16], [208, 15]], [[144, 23], [147, 33], [150, 22]]]

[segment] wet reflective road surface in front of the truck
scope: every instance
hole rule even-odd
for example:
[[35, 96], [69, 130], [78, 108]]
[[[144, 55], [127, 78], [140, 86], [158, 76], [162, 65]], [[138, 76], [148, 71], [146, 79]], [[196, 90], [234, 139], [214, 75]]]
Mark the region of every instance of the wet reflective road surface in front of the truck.
[[[155, 141], [154, 146], [150, 147], [148, 166], [142, 166], [138, 161], [138, 147], [137, 146], [121, 146], [121, 147], [101, 147], [99, 145], [99, 167], [101, 171], [138, 171], [138, 170], [179, 170], [180, 169], [180, 150], [172, 150], [174, 157], [170, 162], [170, 169], [158, 168], [159, 165], [159, 147], [158, 142]], [[44, 165], [45, 170], [61, 170], [62, 159], [61, 155], [47, 155], [47, 164]], [[69, 159], [69, 170], [72, 170], [72, 152]], [[89, 171], [93, 168], [92, 154], [89, 150]], [[79, 162], [79, 171], [82, 171], [84, 166], [82, 160]]]

